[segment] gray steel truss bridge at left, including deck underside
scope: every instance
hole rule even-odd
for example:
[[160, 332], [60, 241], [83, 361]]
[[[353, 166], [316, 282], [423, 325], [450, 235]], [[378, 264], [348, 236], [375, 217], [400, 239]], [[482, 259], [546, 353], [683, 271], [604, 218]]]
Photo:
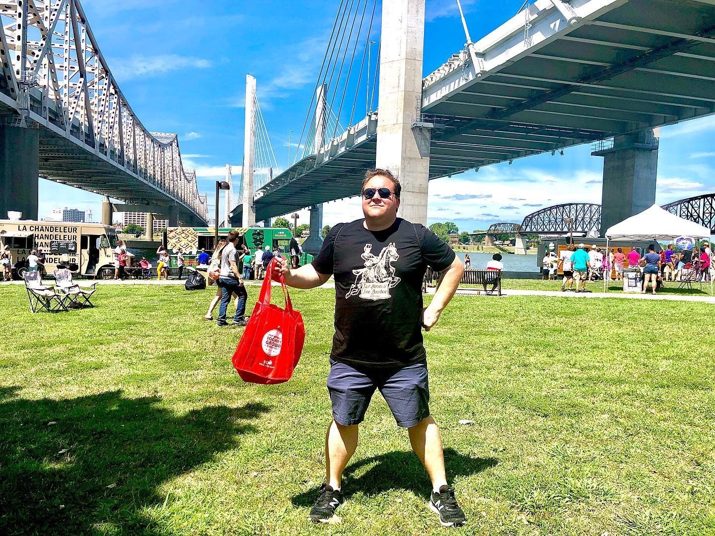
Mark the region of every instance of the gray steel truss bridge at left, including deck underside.
[[79, 0], [0, 0], [0, 23], [0, 123], [39, 130], [41, 176], [205, 225], [177, 135], [139, 121]]

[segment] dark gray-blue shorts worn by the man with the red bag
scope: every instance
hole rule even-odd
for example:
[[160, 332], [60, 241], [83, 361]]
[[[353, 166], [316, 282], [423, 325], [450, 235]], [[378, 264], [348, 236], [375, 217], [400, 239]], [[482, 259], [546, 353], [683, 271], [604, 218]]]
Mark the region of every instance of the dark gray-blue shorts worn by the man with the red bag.
[[401, 369], [368, 369], [330, 359], [327, 390], [337, 424], [349, 427], [363, 422], [375, 389], [387, 401], [400, 427], [413, 427], [430, 416], [425, 361]]

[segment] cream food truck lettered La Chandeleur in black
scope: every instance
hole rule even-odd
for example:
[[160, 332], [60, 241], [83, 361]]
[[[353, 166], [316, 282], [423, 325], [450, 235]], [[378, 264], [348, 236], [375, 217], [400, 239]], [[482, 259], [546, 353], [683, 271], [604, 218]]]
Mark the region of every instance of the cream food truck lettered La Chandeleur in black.
[[10, 246], [13, 276], [27, 270], [26, 258], [42, 248], [44, 271], [69, 268], [80, 276], [114, 275], [117, 234], [101, 223], [69, 223], [32, 220], [0, 220], [0, 247]]

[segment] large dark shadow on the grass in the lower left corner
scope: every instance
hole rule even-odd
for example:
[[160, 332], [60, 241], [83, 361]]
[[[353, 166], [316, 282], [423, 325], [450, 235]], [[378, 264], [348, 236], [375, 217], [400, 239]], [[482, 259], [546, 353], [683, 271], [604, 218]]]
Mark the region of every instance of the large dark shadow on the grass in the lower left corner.
[[[157, 487], [235, 447], [270, 408], [205, 407], [177, 416], [122, 391], [76, 399], [12, 398], [0, 389], [0, 534], [158, 532], [145, 507]], [[164, 527], [165, 529], [165, 527]], [[164, 531], [165, 532], [165, 531]]]

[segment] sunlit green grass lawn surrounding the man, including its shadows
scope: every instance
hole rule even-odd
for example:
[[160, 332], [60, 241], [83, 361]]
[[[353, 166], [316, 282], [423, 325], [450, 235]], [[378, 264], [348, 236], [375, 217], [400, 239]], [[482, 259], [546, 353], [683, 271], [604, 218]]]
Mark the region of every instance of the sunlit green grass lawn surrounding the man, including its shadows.
[[[210, 297], [100, 284], [94, 309], [33, 315], [0, 287], [0, 534], [444, 534], [378, 394], [342, 524], [307, 520], [333, 291], [292, 292], [307, 339], [277, 386], [239, 379], [241, 331], [202, 320]], [[709, 303], [454, 298], [425, 344], [455, 532], [715, 534], [714, 321]]]

